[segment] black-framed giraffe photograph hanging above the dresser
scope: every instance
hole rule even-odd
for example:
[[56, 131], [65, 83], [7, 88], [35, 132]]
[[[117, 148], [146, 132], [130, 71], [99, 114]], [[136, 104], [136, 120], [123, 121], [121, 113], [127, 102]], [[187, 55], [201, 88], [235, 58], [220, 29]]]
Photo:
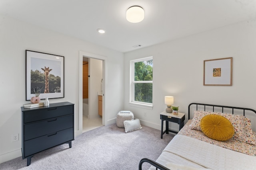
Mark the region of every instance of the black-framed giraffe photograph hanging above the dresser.
[[26, 50], [26, 100], [64, 98], [64, 57]]

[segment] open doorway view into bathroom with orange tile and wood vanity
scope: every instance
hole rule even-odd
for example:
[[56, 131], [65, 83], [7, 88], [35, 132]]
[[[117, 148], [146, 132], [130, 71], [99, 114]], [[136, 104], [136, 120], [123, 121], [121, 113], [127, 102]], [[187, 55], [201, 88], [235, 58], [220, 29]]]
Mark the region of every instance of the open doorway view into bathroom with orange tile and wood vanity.
[[102, 60], [83, 57], [83, 133], [102, 126]]

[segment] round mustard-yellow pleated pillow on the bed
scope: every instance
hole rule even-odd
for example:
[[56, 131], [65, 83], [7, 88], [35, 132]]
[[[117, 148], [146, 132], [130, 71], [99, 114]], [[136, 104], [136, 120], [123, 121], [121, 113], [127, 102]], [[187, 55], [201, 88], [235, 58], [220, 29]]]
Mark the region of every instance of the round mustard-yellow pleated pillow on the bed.
[[235, 133], [230, 121], [221, 115], [204, 116], [200, 126], [204, 135], [217, 141], [227, 141]]

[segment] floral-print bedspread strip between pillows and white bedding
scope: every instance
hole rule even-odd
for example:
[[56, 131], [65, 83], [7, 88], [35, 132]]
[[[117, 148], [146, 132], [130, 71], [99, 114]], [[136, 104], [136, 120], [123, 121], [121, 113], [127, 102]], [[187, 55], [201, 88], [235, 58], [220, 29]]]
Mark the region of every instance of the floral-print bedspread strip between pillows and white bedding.
[[[226, 149], [235, 150], [237, 152], [242, 152], [244, 154], [248, 154], [251, 156], [256, 156], [256, 145], [251, 145], [248, 143], [236, 141], [234, 139], [229, 139], [228, 141], [216, 141], [216, 140], [210, 139], [206, 137], [206, 135], [204, 135], [203, 132], [190, 129], [189, 125], [191, 121], [192, 120], [188, 120], [188, 123], [184, 125], [184, 127], [179, 131], [178, 135], [185, 135], [185, 136], [192, 137], [207, 143], [224, 147]], [[254, 132], [254, 135], [256, 135], [255, 132]]]

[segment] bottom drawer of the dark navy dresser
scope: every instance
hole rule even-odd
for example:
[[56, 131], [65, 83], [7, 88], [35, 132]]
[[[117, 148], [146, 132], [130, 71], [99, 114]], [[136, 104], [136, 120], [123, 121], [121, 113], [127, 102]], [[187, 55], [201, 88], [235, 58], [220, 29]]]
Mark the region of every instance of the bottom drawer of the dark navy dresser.
[[24, 142], [24, 147], [26, 150], [24, 151], [24, 156], [30, 156], [41, 152], [46, 149], [50, 149], [57, 145], [61, 145], [68, 141], [74, 140], [74, 129], [69, 128], [63, 131], [58, 131], [56, 134], [44, 135], [42, 137], [38, 137], [35, 139], [31, 139]]

